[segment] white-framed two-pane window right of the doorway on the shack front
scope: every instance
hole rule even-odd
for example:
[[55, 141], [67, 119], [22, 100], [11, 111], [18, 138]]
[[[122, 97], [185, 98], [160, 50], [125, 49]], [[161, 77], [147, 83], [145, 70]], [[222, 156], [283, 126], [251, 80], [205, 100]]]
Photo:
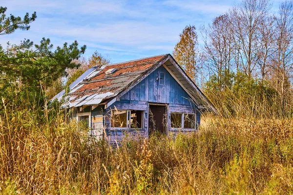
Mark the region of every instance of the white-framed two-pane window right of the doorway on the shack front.
[[171, 113], [171, 127], [182, 129], [196, 128], [196, 114]]

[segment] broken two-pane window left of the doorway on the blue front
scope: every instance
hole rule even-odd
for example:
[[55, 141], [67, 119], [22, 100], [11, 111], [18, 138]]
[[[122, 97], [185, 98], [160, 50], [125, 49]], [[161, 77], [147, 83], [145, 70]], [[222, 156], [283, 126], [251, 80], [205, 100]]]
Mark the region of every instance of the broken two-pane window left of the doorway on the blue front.
[[141, 110], [112, 110], [111, 127], [142, 129], [143, 119]]

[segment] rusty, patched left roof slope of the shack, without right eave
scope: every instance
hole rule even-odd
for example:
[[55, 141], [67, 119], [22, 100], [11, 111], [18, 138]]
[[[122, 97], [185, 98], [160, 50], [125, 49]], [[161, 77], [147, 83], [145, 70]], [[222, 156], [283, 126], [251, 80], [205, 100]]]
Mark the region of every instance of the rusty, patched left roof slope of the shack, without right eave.
[[[146, 72], [167, 58], [167, 56], [166, 54], [103, 65], [102, 67], [92, 67], [90, 71], [86, 71], [69, 86], [69, 93], [65, 96], [62, 107], [70, 108], [99, 104], [106, 99], [113, 98], [144, 76]], [[106, 74], [105, 72], [110, 69], [117, 70], [113, 74]], [[60, 99], [64, 93], [64, 91], [60, 92], [53, 99]]]

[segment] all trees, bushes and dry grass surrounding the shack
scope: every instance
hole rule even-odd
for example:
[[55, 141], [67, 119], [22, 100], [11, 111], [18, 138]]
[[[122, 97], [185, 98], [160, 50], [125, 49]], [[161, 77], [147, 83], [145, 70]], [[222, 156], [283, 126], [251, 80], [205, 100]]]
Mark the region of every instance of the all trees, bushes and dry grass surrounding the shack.
[[[111, 146], [66, 123], [58, 102], [47, 105], [64, 88], [60, 76], [68, 85], [109, 63], [98, 52], [87, 62], [77, 42], [56, 51], [49, 39], [36, 50], [29, 40], [0, 47], [0, 194], [293, 194], [293, 6], [282, 3], [272, 20], [268, 10], [266, 0], [244, 0], [215, 18], [204, 55], [196, 54], [195, 27], [183, 31], [174, 54], [193, 80], [207, 65], [202, 86], [218, 115], [206, 113], [197, 132], [175, 138], [126, 135]], [[245, 29], [253, 39], [240, 34], [245, 14], [262, 11], [256, 28]], [[0, 7], [0, 35], [28, 30], [36, 19], [5, 12]]]

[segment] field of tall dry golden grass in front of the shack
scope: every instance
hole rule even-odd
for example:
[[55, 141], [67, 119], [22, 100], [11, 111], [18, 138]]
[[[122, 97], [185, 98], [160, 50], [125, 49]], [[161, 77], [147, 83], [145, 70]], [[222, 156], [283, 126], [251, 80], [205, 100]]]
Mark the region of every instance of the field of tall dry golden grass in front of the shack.
[[293, 194], [291, 119], [213, 118], [175, 139], [83, 139], [63, 115], [0, 116], [1, 194]]

